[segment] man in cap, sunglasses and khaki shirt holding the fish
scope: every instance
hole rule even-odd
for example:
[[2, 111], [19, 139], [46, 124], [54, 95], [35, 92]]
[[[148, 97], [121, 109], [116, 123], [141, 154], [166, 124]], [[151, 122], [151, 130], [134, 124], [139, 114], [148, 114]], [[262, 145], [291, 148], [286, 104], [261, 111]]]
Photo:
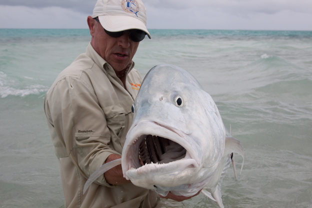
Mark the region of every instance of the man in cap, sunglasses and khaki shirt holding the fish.
[[[131, 105], [142, 79], [132, 57], [145, 35], [141, 0], [97, 0], [87, 17], [91, 41], [47, 91], [44, 110], [58, 158], [65, 207], [154, 207], [157, 193], [134, 186], [118, 165], [82, 194], [87, 178], [121, 157]], [[167, 198], [189, 197], [168, 194]]]

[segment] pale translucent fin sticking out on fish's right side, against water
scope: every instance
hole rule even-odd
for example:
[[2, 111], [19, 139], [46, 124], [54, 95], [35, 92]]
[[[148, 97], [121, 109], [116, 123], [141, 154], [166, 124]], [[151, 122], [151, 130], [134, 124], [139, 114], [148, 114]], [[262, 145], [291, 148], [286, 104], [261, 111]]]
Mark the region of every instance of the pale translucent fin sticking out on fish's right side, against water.
[[[223, 155], [227, 155], [230, 153], [234, 154], [234, 152], [238, 153], [242, 156], [242, 164], [241, 164], [241, 169], [240, 169], [240, 173], [241, 173], [243, 162], [244, 162], [244, 154], [243, 154], [242, 145], [241, 145], [240, 141], [238, 141], [236, 138], [232, 137], [231, 135], [226, 135], [226, 137], [225, 137], [225, 149], [224, 149]], [[232, 157], [232, 158], [234, 158], [234, 157]], [[234, 159], [232, 159], [232, 163], [233, 162], [234, 162]], [[236, 175], [234, 164], [233, 164], [233, 169], [234, 169], [234, 174]]]

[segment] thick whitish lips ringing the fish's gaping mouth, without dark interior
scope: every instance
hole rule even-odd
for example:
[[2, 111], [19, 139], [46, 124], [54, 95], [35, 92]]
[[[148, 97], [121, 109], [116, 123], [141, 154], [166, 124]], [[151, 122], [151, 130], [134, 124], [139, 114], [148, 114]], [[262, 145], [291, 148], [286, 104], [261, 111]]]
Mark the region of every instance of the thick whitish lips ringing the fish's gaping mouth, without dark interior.
[[[184, 158], [173, 161], [176, 164], [181, 163], [177, 169], [181, 170], [190, 165], [192, 165], [193, 167], [198, 167], [199, 164], [201, 163], [199, 152], [198, 150], [196, 150], [196, 149], [200, 150], [201, 148], [196, 142], [193, 141], [193, 139], [191, 139], [189, 135], [183, 133], [180, 130], [160, 124], [155, 121], [140, 120], [139, 122], [137, 122], [135, 125], [133, 125], [129, 129], [127, 136], [126, 136], [127, 139], [124, 143], [124, 147], [122, 150], [122, 155], [126, 154], [126, 156], [122, 157], [121, 159], [121, 165], [122, 165], [122, 171], [123, 171], [124, 177], [127, 178], [126, 172], [128, 170], [142, 171], [144, 168], [141, 168], [141, 167], [150, 166], [150, 165], [155, 166], [155, 163], [145, 164], [138, 168], [136, 168], [134, 165], [134, 163], [136, 162], [135, 157], [137, 157], [135, 152], [138, 151], [138, 145], [139, 145], [139, 142], [137, 142], [138, 141], [137, 138], [140, 137], [141, 135], [149, 135], [149, 134], [170, 139], [180, 144], [182, 147], [186, 149], [186, 156]], [[155, 168], [165, 167], [166, 165], [170, 163], [157, 164]], [[183, 165], [183, 163], [185, 165]], [[172, 169], [170, 171], [172, 171]]]

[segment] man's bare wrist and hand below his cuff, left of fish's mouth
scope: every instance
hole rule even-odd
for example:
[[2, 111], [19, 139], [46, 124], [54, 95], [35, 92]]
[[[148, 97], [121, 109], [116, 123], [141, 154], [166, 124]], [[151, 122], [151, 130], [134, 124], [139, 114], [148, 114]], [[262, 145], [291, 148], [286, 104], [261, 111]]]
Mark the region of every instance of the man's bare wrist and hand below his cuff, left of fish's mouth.
[[[107, 159], [105, 160], [105, 163], [110, 162], [110, 161], [115, 160], [115, 159], [119, 159], [119, 158], [121, 158], [120, 155], [110, 154], [107, 157]], [[104, 172], [104, 177], [105, 177], [105, 180], [109, 184], [112, 184], [112, 185], [121, 185], [121, 184], [131, 182], [130, 180], [127, 180], [123, 177], [121, 164], [119, 164], [119, 165], [107, 170], [106, 172]]]

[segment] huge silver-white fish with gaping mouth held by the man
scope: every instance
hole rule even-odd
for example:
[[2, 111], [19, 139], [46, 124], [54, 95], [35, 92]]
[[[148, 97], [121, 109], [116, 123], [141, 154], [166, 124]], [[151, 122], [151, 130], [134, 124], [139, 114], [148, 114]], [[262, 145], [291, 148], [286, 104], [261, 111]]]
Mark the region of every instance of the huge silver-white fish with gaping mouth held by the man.
[[[232, 152], [241, 143], [226, 132], [220, 113], [186, 70], [162, 64], [151, 68], [132, 106], [134, 118], [121, 155], [123, 176], [162, 196], [191, 196], [199, 190], [220, 207], [220, 182]], [[232, 158], [233, 168], [235, 166]], [[89, 184], [120, 160], [102, 165]], [[235, 175], [236, 176], [236, 175]]]

